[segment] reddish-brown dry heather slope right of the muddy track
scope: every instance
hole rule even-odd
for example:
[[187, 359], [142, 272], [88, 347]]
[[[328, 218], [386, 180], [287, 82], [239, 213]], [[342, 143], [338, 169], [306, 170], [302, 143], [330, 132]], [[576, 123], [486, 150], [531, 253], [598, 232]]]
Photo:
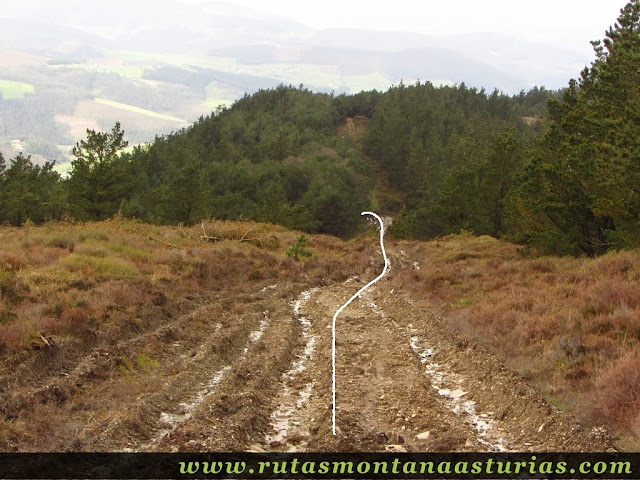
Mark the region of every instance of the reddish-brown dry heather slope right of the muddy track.
[[[640, 445], [640, 252], [524, 255], [490, 237], [398, 244], [397, 287], [427, 297], [556, 406]], [[400, 258], [402, 261], [402, 257]]]

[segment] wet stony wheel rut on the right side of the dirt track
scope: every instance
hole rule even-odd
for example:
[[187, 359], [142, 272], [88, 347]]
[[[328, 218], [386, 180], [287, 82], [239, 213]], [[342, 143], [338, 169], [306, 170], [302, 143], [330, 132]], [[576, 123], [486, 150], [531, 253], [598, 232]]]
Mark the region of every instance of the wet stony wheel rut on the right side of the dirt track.
[[400, 292], [380, 290], [373, 296], [372, 309], [391, 318], [422, 364], [438, 402], [472, 427], [473, 440], [482, 450], [613, 447], [606, 432], [586, 428], [575, 417], [557, 411], [492, 354], [454, 334], [428, 302]]

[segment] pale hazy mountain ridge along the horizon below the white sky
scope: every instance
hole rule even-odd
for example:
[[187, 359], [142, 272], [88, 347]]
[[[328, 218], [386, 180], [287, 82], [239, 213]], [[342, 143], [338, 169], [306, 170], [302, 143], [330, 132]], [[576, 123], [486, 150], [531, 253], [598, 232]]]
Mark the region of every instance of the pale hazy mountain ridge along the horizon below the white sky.
[[[129, 14], [119, 15], [118, 6], [126, 6]], [[18, 50], [51, 52], [68, 50], [73, 43], [89, 43], [97, 48], [155, 53], [209, 52], [241, 64], [338, 65], [347, 74], [380, 73], [390, 83], [418, 78], [464, 81], [508, 93], [534, 85], [562, 88], [585, 63], [581, 52], [561, 45], [550, 49], [508, 35], [318, 30], [225, 2], [193, 3], [182, 9], [157, 5], [146, 11], [115, 1], [99, 16], [88, 14], [86, 8], [66, 11], [52, 6], [32, 15], [0, 18], [0, 25], [5, 32], [0, 45]]]

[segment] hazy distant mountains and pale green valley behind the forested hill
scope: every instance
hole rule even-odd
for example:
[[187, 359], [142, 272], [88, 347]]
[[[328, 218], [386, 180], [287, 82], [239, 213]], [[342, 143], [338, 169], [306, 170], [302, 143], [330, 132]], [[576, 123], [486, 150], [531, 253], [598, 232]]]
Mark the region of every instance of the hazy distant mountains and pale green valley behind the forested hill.
[[[5, 153], [23, 148], [51, 157], [58, 148], [64, 158], [86, 128], [121, 117], [134, 143], [147, 141], [278, 83], [355, 93], [401, 80], [465, 82], [515, 94], [534, 85], [562, 88], [589, 62], [584, 52], [499, 34], [317, 30], [226, 3], [176, 8], [117, 0], [92, 11], [82, 5], [26, 2], [3, 9]], [[38, 94], [46, 128], [35, 128], [36, 118], [18, 121], [13, 117], [35, 114], [6, 105]]]

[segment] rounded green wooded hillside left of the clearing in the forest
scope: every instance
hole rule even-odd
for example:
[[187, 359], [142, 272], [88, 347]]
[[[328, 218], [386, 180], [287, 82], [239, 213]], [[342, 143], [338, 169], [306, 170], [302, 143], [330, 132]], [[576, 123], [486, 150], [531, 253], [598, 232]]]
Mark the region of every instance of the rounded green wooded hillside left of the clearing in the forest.
[[245, 95], [130, 156], [124, 211], [161, 223], [252, 218], [338, 235], [369, 205], [361, 154], [335, 134], [330, 95], [279, 86]]

